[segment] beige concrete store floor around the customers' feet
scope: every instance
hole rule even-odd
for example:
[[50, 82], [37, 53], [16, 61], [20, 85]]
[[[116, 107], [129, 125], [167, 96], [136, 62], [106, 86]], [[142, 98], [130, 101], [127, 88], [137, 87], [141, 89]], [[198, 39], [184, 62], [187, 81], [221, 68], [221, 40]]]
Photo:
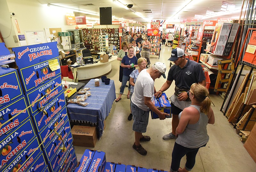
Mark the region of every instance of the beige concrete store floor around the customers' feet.
[[[171, 54], [170, 47], [162, 46], [160, 59], [158, 56], [150, 57], [151, 64], [156, 61], [163, 62], [167, 66], [166, 75], [170, 69], [168, 58]], [[116, 97], [118, 97], [121, 83], [118, 81], [119, 61], [112, 62], [112, 72], [108, 78], [115, 81]], [[165, 79], [161, 77], [156, 79], [155, 87], [159, 90], [164, 84]], [[124, 94], [127, 95], [127, 87]], [[174, 92], [174, 82], [172, 86], [165, 91], [168, 97]], [[164, 134], [171, 131], [172, 118], [160, 121], [158, 119], [149, 119], [147, 132], [145, 135], [151, 137], [149, 142], [141, 143], [148, 151], [146, 156], [140, 155], [133, 148], [134, 131], [132, 131], [132, 122], [127, 117], [130, 113], [130, 99], [122, 96], [119, 102], [113, 102], [109, 116], [106, 118], [106, 128], [101, 140], [97, 140], [95, 150], [106, 152], [108, 162], [121, 162], [126, 165], [141, 166], [144, 168], [157, 168], [169, 171], [172, 160], [172, 148], [175, 140], [163, 140]], [[200, 148], [196, 156], [196, 164], [192, 171], [244, 171], [256, 172], [256, 164], [247, 153], [241, 142], [240, 136], [236, 134], [233, 126], [228, 123], [227, 118], [220, 112], [223, 99], [219, 95], [210, 95], [214, 105], [212, 109], [215, 115], [215, 124], [207, 126], [210, 137], [206, 147]], [[80, 161], [85, 149], [91, 147], [75, 146], [76, 156]], [[183, 168], [186, 158], [183, 157], [180, 166]]]

